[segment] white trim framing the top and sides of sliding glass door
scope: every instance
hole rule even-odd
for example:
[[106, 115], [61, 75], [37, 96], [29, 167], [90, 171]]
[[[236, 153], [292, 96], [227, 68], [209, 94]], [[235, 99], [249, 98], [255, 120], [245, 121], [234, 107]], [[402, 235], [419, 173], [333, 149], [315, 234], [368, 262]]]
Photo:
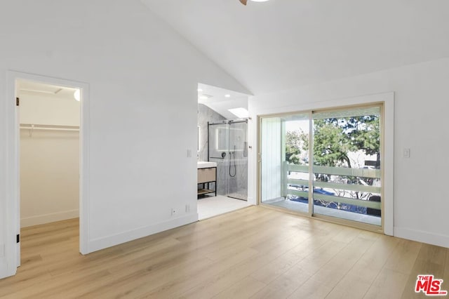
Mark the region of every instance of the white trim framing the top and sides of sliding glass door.
[[[276, 95], [274, 95], [275, 97]], [[257, 100], [257, 98], [256, 98]], [[304, 112], [317, 109], [330, 109], [335, 107], [371, 104], [375, 102], [384, 103], [384, 234], [393, 235], [394, 226], [394, 93], [378, 93], [373, 95], [361, 95], [356, 97], [340, 98], [320, 102], [305, 102], [299, 105], [284, 107], [260, 107], [256, 111], [250, 111], [250, 117], [257, 119], [261, 116], [276, 115], [290, 112]], [[250, 128], [250, 138], [259, 138], [257, 124]], [[253, 142], [253, 143], [255, 143]], [[248, 183], [248, 198], [257, 194], [257, 152], [250, 152], [248, 157], [248, 170], [252, 173], [249, 177], [253, 181]]]

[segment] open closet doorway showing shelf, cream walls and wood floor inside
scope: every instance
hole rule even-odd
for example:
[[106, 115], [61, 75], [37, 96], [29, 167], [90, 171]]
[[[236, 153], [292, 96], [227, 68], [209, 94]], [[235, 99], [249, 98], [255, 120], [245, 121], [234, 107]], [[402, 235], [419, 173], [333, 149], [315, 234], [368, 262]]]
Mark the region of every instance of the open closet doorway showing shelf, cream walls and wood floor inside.
[[[77, 251], [81, 90], [18, 79], [15, 94], [21, 244], [39, 252], [41, 239], [62, 238], [69, 251]], [[21, 255], [26, 260], [29, 253]]]

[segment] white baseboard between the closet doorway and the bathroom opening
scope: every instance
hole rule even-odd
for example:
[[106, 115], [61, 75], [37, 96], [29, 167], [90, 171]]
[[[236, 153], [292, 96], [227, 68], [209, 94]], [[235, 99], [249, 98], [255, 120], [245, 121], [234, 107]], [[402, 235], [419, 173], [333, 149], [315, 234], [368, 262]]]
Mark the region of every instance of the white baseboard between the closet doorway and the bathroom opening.
[[93, 239], [88, 242], [88, 253], [99, 251], [101, 249], [105, 249], [111, 246], [123, 244], [128, 241], [133, 241], [135, 239], [147, 237], [150, 234], [156, 234], [158, 232], [163, 232], [165, 230], [171, 230], [172, 228], [187, 225], [189, 223], [196, 221], [198, 221], [198, 213], [193, 213], [189, 215], [184, 215], [179, 218], [170, 219], [164, 222], [159, 222], [154, 225], [149, 225], [147, 227], [140, 227], [138, 229], [130, 230], [128, 232], [121, 232], [120, 234], [114, 234], [108, 237]]

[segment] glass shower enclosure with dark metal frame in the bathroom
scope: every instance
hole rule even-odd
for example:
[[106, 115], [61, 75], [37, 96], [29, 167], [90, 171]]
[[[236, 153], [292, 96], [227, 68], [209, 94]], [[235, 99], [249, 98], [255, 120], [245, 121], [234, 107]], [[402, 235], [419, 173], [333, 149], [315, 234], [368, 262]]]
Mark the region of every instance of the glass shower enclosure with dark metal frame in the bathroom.
[[217, 194], [248, 199], [248, 119], [208, 123], [208, 161], [217, 162]]

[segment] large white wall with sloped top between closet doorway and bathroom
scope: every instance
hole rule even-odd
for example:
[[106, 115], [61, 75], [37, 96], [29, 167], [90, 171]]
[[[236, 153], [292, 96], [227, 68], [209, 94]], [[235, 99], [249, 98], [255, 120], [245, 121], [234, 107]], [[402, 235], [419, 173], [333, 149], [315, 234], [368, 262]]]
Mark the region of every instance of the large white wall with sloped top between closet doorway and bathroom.
[[[0, 73], [13, 69], [89, 85], [88, 251], [196, 221], [196, 157], [187, 157], [187, 150], [196, 152], [196, 86], [248, 91], [140, 1], [1, 6]], [[6, 88], [0, 76], [0, 187], [11, 142], [6, 109], [13, 99]], [[11, 209], [3, 208], [4, 190], [1, 221]], [[172, 207], [180, 211], [175, 217]]]

